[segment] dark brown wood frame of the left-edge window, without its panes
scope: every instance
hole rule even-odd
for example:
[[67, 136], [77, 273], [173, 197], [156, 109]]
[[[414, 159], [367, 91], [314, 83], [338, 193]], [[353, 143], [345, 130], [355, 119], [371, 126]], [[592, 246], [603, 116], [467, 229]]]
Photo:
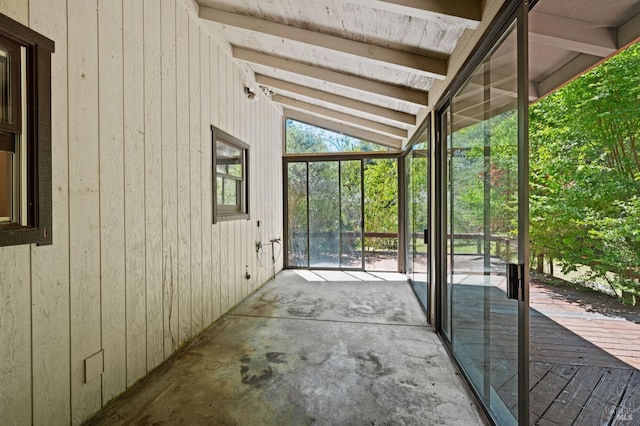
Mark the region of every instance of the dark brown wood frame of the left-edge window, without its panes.
[[[0, 14], [0, 37], [26, 49], [27, 222], [0, 224], [0, 246], [49, 245], [52, 239], [51, 54], [55, 44], [34, 30]], [[2, 130], [2, 129], [0, 129]]]

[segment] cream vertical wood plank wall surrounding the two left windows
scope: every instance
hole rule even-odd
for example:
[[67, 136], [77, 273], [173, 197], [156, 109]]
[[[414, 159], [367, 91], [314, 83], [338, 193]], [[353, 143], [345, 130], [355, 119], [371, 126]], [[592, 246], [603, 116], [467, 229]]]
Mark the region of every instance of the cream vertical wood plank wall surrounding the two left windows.
[[[56, 43], [54, 243], [0, 248], [0, 419], [80, 424], [272, 276], [282, 115], [192, 0], [0, 12]], [[251, 146], [248, 221], [212, 225], [211, 124]]]

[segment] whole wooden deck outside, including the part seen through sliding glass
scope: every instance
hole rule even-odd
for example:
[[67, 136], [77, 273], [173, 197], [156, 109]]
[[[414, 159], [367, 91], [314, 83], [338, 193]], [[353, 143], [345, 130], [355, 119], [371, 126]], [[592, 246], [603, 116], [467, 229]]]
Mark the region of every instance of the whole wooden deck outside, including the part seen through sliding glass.
[[[483, 383], [489, 374], [505, 408], [515, 413], [517, 307], [499, 283], [483, 286], [484, 279], [457, 276], [454, 346], [472, 380]], [[640, 425], [640, 308], [541, 277], [532, 280], [530, 298], [531, 424]], [[478, 304], [482, 299], [491, 303], [490, 318]], [[488, 334], [478, 320], [483, 315]], [[490, 361], [481, 349], [487, 339]]]

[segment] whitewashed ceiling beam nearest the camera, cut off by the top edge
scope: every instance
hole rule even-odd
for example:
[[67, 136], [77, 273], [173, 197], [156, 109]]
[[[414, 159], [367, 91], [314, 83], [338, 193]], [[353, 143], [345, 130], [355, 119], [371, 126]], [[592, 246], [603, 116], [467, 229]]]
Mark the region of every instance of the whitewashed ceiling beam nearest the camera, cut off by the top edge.
[[476, 29], [482, 20], [481, 0], [348, 0], [349, 3], [422, 19]]

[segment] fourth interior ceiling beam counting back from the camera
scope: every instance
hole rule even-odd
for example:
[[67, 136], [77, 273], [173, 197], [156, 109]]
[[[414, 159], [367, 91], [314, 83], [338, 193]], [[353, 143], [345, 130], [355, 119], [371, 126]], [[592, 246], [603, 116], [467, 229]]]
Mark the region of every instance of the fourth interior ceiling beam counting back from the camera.
[[365, 114], [385, 118], [387, 120], [394, 121], [403, 125], [415, 126], [417, 124], [416, 116], [413, 114], [396, 111], [394, 109], [381, 107], [379, 105], [374, 105], [367, 102], [358, 101], [346, 96], [336, 95], [334, 93], [313, 89], [311, 87], [301, 86], [299, 84], [290, 83], [288, 81], [279, 80], [277, 78], [257, 74], [256, 83], [262, 86], [270, 87], [271, 89], [274, 89], [276, 91], [284, 91], [295, 95], [300, 95], [305, 98], [317, 99], [321, 102], [339, 105], [354, 111], [359, 111]]

